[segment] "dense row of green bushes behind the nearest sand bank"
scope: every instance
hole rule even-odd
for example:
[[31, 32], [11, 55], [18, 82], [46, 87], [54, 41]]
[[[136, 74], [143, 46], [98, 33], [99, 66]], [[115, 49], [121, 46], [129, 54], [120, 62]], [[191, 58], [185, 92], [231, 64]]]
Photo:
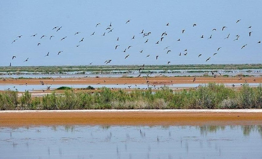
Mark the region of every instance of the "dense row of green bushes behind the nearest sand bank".
[[18, 98], [17, 92], [0, 93], [0, 110], [24, 109], [216, 109], [216, 108], [262, 108], [262, 85], [250, 87], [243, 84], [240, 90], [227, 88], [223, 84], [210, 83], [197, 89], [173, 92], [163, 88], [148, 90], [75, 93], [66, 90], [62, 94], [46, 94], [42, 98], [31, 98], [29, 92]]

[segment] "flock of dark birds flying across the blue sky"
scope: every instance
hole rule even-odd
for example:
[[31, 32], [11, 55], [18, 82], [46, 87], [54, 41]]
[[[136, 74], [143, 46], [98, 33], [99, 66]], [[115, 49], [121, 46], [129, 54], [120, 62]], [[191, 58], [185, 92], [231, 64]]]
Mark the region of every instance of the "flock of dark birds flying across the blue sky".
[[[241, 22], [241, 19], [237, 20], [235, 23], [237, 24], [237, 23], [240, 23], [240, 22]], [[131, 23], [131, 19], [125, 22], [126, 25], [128, 25], [129, 23]], [[99, 27], [100, 25], [101, 25], [101, 23], [97, 23], [97, 24], [95, 25], [95, 27]], [[169, 22], [168, 22], [165, 26], [166, 26], [166, 27], [169, 27]], [[193, 28], [197, 27], [197, 24], [194, 23], [194, 24], [192, 25], [192, 27], [193, 27]], [[53, 31], [53, 32], [58, 32], [58, 31], [62, 31], [62, 29], [63, 29], [62, 26], [55, 26], [55, 27], [52, 28], [52, 31]], [[247, 27], [247, 30], [248, 30], [247, 33], [248, 33], [249, 36], [252, 36], [252, 34], [253, 34], [253, 31], [251, 31], [251, 29], [252, 29], [252, 26]], [[222, 30], [222, 31], [227, 30], [227, 26], [222, 26], [221, 30]], [[213, 28], [212, 31], [217, 31], [217, 29], [216, 29], [216, 28]], [[105, 31], [104, 31], [104, 33], [103, 33], [101, 36], [105, 36], [106, 34], [110, 34], [110, 33], [112, 33], [112, 32], [114, 32], [114, 27], [113, 27], [112, 23], [110, 22], [110, 24], [105, 28]], [[183, 29], [183, 30], [181, 31], [181, 34], [184, 34], [185, 32], [186, 32], [186, 30]], [[77, 35], [80, 35], [80, 34], [81, 34], [81, 32], [80, 32], [80, 31], [77, 31], [77, 32], [74, 33], [74, 36], [77, 36]], [[96, 34], [96, 31], [92, 32], [92, 34], [90, 34], [90, 36], [94, 36], [95, 34]], [[139, 32], [139, 35], [141, 35], [143, 38], [145, 37], [145, 38], [144, 38], [144, 39], [145, 39], [145, 40], [144, 40], [144, 44], [148, 43], [150, 34], [151, 34], [150, 31], [149, 31], [149, 32], [145, 32], [144, 29], [142, 29], [142, 31]], [[35, 34], [31, 35], [31, 37], [37, 37], [38, 35], [39, 35], [38, 33], [35, 33]], [[48, 37], [47, 37], [46, 35], [40, 35], [40, 36], [41, 36], [40, 39], [48, 38], [48, 37], [49, 37], [49, 40], [50, 40], [50, 41], [51, 41], [53, 38], [55, 38], [55, 36], [53, 36], [53, 35], [48, 36]], [[164, 32], [162, 32], [162, 34], [159, 35], [159, 39], [156, 40], [155, 45], [158, 45], [159, 43], [163, 42], [163, 39], [165, 38], [165, 36], [167, 36], [167, 31], [164, 31]], [[13, 44], [13, 43], [17, 43], [18, 40], [22, 39], [22, 37], [23, 37], [23, 35], [17, 36], [17, 38], [12, 41], [12, 44]], [[66, 38], [67, 38], [67, 36], [61, 37], [60, 41], [64, 41]], [[131, 40], [133, 40], [133, 39], [135, 39], [135, 38], [136, 38], [136, 36], [132, 36]], [[200, 39], [203, 39], [203, 38], [204, 38], [204, 35], [201, 35], [201, 36], [200, 36]], [[230, 33], [229, 33], [228, 36], [226, 36], [224, 39], [228, 39], [228, 38], [230, 38]], [[240, 38], [240, 35], [236, 35], [236, 36], [235, 36], [235, 39], [234, 39], [233, 41], [237, 41], [239, 38]], [[212, 39], [212, 34], [211, 34], [210, 36], [208, 36], [207, 39], [208, 39], [208, 40]], [[76, 45], [76, 47], [79, 47], [84, 40], [85, 40], [85, 37], [81, 37], [81, 38], [79, 39], [79, 41], [77, 41], [78, 45]], [[116, 41], [120, 41], [119, 37], [117, 37]], [[177, 41], [181, 41], [181, 39], [179, 38]], [[261, 41], [258, 41], [257, 43], [260, 44]], [[37, 46], [40, 46], [40, 45], [41, 45], [40, 42], [37, 43]], [[244, 44], [244, 45], [240, 46], [240, 49], [244, 49], [244, 47], [246, 47], [247, 45], [248, 45], [248, 44]], [[114, 49], [115, 49], [115, 50], [118, 50], [119, 47], [120, 47], [120, 45], [116, 45], [116, 46], [114, 46]], [[131, 47], [133, 47], [133, 46], [128, 46], [127, 48], [124, 48], [124, 49], [123, 49], [124, 51], [122, 51], [122, 52], [127, 53], [128, 50], [129, 50]], [[166, 46], [165, 48], [163, 48], [163, 50], [166, 51], [166, 54], [172, 52], [172, 50], [169, 49], [169, 47], [170, 47], [170, 46]], [[221, 48], [222, 48], [222, 47], [218, 47], [216, 51], [218, 52]], [[143, 53], [143, 50], [141, 50], [141, 51], [139, 51], [139, 52], [140, 52], [140, 53]], [[215, 55], [217, 54], [217, 52], [216, 52], [216, 53], [213, 53], [213, 56], [215, 56]], [[57, 52], [57, 55], [60, 55], [61, 53], [63, 53], [63, 51], [58, 51], [58, 52]], [[187, 56], [187, 55], [188, 55], [187, 53], [188, 53], [188, 52], [187, 52], [187, 49], [185, 49], [184, 51], [180, 52], [178, 55], [179, 55], [179, 56], [181, 56], [181, 55]], [[199, 55], [198, 55], [198, 58], [200, 58], [201, 55], [202, 55], [202, 54], [199, 54]], [[46, 55], [44, 55], [44, 56], [45, 56], [45, 57], [46, 57], [46, 56], [49, 56], [49, 52], [47, 52]], [[124, 56], [124, 59], [129, 58], [129, 56], [130, 56], [130, 54], [125, 55], [125, 56]], [[146, 57], [149, 57], [149, 56], [150, 56], [150, 54], [148, 54]], [[210, 60], [211, 57], [212, 57], [212, 56], [210, 55], [210, 57], [208, 57], [207, 59], [205, 59], [205, 61]], [[14, 58], [16, 58], [16, 55], [13, 55], [13, 56], [12, 56], [12, 60], [13, 60]], [[156, 55], [155, 59], [158, 60], [158, 58], [159, 58], [159, 55]], [[24, 60], [24, 62], [27, 62], [29, 59], [30, 59], [30, 58], [28, 57], [27, 59]], [[108, 59], [108, 60], [105, 60], [104, 63], [105, 63], [105, 65], [106, 65], [106, 64], [109, 64], [111, 61], [112, 61], [112, 59]], [[167, 61], [167, 65], [170, 64], [170, 62], [171, 62], [171, 61]], [[89, 65], [92, 65], [92, 63], [93, 63], [93, 62], [89, 63]], [[11, 63], [11, 62], [10, 62], [10, 65], [9, 65], [9, 66], [12, 66], [12, 63]], [[143, 66], [144, 66], [144, 65], [143, 65]], [[143, 69], [143, 66], [141, 67], [141, 69]]]

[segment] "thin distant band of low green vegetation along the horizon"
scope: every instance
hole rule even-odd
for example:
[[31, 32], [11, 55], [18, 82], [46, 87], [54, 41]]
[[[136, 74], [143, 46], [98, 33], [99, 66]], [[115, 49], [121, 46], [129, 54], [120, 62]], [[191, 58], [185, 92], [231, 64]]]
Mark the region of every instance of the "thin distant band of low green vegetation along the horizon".
[[[14, 72], [24, 74], [24, 72], [35, 72], [54, 74], [65, 74], [66, 72], [106, 72], [116, 70], [139, 70], [141, 65], [97, 65], [97, 66], [4, 66], [0, 67], [0, 72]], [[212, 65], [145, 65], [143, 70], [241, 70], [241, 69], [262, 69], [262, 64], [212, 64]]]

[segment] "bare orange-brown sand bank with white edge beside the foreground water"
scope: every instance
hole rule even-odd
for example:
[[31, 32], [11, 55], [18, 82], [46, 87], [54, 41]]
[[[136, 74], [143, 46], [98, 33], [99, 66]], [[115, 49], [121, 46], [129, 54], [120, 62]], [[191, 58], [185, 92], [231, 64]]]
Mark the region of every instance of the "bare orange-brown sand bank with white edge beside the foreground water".
[[33, 125], [262, 125], [262, 109], [0, 111], [0, 126]]

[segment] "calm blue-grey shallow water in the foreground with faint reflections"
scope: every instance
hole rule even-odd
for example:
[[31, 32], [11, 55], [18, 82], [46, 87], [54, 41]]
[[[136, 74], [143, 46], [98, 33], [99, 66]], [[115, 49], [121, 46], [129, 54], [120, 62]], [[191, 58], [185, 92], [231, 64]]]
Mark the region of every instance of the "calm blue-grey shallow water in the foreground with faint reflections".
[[262, 126], [2, 127], [0, 149], [1, 159], [254, 159], [262, 158]]

